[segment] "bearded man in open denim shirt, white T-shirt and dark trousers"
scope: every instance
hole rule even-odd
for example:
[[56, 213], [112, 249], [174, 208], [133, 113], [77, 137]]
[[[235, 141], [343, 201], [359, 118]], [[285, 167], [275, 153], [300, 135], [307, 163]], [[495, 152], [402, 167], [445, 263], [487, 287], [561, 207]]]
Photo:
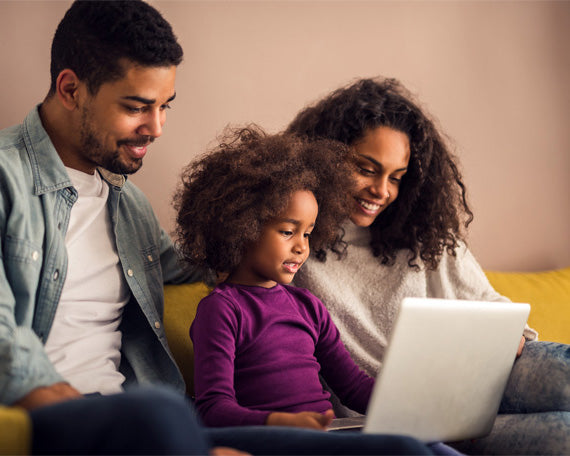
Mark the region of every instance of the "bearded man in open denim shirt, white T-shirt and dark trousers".
[[[47, 97], [0, 132], [0, 404], [30, 411], [39, 453], [203, 453], [211, 442], [263, 454], [430, 454], [400, 437], [204, 431], [182, 397], [122, 393], [184, 391], [162, 327], [163, 285], [206, 278], [180, 269], [125, 177], [162, 133], [181, 60], [146, 3], [76, 1], [53, 39]], [[106, 396], [77, 400], [93, 393]], [[101, 446], [111, 435], [116, 443]]]

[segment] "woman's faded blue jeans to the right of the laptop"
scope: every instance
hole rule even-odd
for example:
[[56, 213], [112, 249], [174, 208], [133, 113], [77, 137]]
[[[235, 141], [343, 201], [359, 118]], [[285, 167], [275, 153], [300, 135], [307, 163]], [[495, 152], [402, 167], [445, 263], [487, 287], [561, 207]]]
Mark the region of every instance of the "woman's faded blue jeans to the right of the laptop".
[[570, 345], [527, 342], [491, 433], [453, 446], [467, 454], [570, 454]]

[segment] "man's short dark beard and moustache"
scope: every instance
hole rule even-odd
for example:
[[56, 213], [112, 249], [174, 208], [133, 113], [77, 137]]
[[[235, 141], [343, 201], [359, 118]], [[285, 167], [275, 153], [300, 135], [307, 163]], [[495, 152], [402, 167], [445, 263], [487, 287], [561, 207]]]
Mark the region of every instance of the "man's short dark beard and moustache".
[[133, 174], [142, 166], [142, 158], [132, 158], [127, 163], [123, 163], [120, 159], [119, 147], [122, 144], [147, 144], [152, 142], [154, 138], [141, 137], [136, 140], [120, 140], [115, 150], [106, 150], [105, 146], [99, 141], [93, 130], [91, 129], [89, 110], [84, 108], [81, 116], [81, 154], [95, 163], [101, 168], [105, 168], [115, 174]]

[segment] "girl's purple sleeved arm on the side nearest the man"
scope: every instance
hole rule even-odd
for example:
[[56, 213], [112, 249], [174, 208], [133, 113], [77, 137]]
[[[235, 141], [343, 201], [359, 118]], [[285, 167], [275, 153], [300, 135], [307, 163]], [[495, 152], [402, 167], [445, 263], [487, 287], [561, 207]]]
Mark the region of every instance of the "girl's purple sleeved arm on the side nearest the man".
[[190, 337], [196, 407], [206, 426], [262, 425], [270, 414], [242, 407], [236, 399], [233, 379], [238, 331], [238, 310], [226, 298], [214, 292], [200, 302]]

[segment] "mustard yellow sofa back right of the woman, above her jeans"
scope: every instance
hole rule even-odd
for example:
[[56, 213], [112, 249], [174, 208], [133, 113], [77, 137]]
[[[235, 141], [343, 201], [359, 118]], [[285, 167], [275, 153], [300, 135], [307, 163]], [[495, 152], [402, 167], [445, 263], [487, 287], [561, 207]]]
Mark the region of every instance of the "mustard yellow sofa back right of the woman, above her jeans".
[[486, 271], [503, 296], [531, 305], [528, 325], [540, 340], [570, 343], [570, 267], [544, 272]]

